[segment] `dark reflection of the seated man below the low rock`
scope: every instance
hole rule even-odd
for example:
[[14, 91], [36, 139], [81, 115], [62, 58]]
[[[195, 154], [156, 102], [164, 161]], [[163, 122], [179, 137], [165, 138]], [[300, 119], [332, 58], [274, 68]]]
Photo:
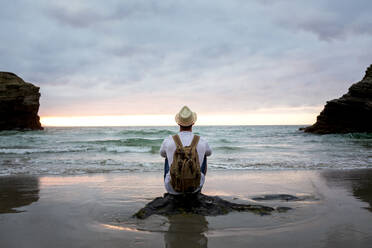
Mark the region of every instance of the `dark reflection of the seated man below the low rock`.
[[169, 216], [169, 229], [164, 234], [165, 247], [208, 247], [208, 239], [204, 233], [208, 230], [208, 222], [201, 215]]

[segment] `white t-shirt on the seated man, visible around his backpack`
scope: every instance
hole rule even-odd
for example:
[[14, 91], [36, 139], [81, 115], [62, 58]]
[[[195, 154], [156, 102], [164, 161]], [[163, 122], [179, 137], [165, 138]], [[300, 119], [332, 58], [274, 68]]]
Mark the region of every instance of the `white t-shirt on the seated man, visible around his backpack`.
[[[178, 136], [180, 137], [183, 146], [189, 146], [191, 144], [192, 139], [194, 138], [194, 134], [189, 131], [179, 132]], [[160, 147], [160, 155], [164, 158], [167, 158], [168, 164], [169, 164], [169, 171], [167, 175], [165, 176], [164, 186], [168, 193], [174, 194], [174, 195], [180, 194], [174, 191], [174, 189], [172, 188], [172, 185], [170, 184], [170, 167], [173, 162], [173, 155], [174, 155], [174, 152], [176, 151], [176, 148], [177, 148], [176, 143], [174, 143], [174, 140], [171, 135], [168, 136], [166, 139], [164, 139], [163, 144]], [[198, 152], [199, 164], [201, 166], [204, 160], [204, 156], [210, 156], [212, 154], [212, 150], [209, 147], [208, 142], [202, 137], [200, 137], [198, 145], [196, 146], [196, 150]], [[195, 190], [195, 192], [200, 190], [203, 187], [204, 180], [205, 180], [205, 175], [201, 173], [200, 186], [197, 190]]]

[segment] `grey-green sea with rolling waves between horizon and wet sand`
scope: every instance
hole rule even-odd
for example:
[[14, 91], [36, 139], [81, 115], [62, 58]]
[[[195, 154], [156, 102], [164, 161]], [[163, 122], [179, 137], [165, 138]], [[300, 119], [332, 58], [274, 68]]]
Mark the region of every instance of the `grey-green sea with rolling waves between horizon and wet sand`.
[[[301, 126], [195, 126], [208, 170], [372, 168], [372, 134], [316, 135]], [[46, 127], [0, 132], [0, 176], [163, 171], [169, 127]]]

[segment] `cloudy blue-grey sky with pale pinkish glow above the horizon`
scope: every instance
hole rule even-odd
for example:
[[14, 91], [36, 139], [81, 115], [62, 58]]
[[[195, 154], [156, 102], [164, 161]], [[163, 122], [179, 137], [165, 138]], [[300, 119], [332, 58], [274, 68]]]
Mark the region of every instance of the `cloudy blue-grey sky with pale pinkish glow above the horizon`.
[[311, 124], [372, 63], [370, 0], [0, 1], [0, 71], [50, 125]]

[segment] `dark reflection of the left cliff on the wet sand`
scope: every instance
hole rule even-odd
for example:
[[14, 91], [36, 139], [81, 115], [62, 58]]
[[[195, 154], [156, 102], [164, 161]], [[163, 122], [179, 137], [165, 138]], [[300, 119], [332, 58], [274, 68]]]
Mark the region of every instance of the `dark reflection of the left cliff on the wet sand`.
[[30, 176], [0, 177], [0, 214], [23, 212], [15, 208], [39, 200], [39, 179]]

